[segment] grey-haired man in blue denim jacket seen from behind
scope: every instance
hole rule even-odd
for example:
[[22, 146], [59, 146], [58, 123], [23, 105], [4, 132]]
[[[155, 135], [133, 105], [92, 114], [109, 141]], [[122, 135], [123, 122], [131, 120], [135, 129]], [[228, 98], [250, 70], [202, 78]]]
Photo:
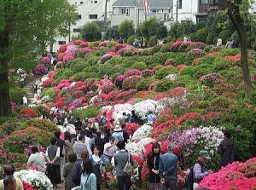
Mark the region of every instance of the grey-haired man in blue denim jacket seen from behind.
[[168, 152], [160, 157], [159, 175], [163, 190], [177, 190], [177, 156], [173, 154], [174, 145], [167, 146]]

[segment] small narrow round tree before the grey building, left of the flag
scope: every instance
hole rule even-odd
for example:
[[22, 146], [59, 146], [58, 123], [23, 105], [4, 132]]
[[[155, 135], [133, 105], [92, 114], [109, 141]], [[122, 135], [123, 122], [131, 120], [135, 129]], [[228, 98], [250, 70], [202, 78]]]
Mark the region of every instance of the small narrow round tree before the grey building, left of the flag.
[[134, 24], [132, 20], [124, 20], [119, 24], [119, 35], [125, 41], [134, 34]]

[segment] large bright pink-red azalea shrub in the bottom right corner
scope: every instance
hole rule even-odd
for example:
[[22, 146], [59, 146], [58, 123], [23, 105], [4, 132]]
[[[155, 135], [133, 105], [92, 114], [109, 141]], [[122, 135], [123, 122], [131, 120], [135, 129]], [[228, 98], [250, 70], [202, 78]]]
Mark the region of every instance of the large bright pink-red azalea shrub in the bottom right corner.
[[228, 164], [218, 172], [204, 177], [199, 184], [199, 188], [207, 187], [211, 190], [254, 189], [256, 187], [255, 169], [256, 158], [248, 159], [246, 163], [234, 162]]

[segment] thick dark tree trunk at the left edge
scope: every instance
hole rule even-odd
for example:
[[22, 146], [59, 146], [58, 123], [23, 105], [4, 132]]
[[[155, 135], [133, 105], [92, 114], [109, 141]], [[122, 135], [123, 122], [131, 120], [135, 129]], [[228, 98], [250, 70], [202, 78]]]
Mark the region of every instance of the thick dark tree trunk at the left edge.
[[9, 32], [0, 32], [0, 116], [10, 116], [8, 79]]

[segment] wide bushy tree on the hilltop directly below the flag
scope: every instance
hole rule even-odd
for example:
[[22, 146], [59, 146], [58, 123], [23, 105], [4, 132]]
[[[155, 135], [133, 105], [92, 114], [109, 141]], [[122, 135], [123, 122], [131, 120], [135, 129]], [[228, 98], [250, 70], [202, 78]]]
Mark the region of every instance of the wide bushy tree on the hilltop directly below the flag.
[[167, 29], [163, 21], [157, 20], [155, 17], [150, 17], [144, 20], [139, 26], [140, 32], [143, 37], [150, 38], [156, 37], [166, 37]]

